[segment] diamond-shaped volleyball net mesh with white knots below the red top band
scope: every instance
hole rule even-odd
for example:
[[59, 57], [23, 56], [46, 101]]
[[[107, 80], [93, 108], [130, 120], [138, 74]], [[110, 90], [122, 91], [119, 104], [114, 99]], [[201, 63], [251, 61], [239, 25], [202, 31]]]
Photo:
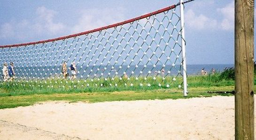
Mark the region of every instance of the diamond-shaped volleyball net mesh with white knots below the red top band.
[[180, 16], [176, 6], [162, 11], [50, 42], [1, 46], [0, 85], [28, 90], [181, 88]]

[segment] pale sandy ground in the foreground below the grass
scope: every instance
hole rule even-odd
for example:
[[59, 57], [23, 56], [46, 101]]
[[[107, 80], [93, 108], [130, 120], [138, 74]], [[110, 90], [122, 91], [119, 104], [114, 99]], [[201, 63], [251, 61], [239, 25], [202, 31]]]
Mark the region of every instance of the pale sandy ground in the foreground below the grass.
[[46, 102], [0, 110], [0, 140], [80, 139], [233, 140], [234, 97]]

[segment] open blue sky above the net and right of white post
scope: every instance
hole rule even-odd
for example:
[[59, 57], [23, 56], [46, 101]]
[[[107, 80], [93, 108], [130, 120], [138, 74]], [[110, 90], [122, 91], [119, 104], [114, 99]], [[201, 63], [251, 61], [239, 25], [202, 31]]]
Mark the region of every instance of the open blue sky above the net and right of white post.
[[[131, 19], [178, 0], [0, 0], [0, 45], [34, 42]], [[187, 64], [234, 63], [234, 0], [185, 5]]]

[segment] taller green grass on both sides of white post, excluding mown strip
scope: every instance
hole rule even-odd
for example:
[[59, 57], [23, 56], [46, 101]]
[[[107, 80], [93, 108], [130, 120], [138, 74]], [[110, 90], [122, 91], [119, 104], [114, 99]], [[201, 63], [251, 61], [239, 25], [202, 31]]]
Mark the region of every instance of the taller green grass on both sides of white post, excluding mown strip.
[[[190, 76], [187, 78], [189, 88], [210, 86], [231, 86], [234, 80], [226, 80], [220, 73], [208, 76]], [[159, 86], [160, 84], [160, 86]], [[130, 77], [130, 79], [66, 79], [20, 80], [0, 83], [0, 97], [21, 96], [33, 94], [83, 93], [83, 92], [113, 92], [113, 91], [147, 91], [147, 90], [179, 90], [182, 77]], [[117, 85], [117, 86], [116, 86]], [[143, 85], [143, 86], [141, 86]], [[148, 86], [150, 85], [150, 86]]]

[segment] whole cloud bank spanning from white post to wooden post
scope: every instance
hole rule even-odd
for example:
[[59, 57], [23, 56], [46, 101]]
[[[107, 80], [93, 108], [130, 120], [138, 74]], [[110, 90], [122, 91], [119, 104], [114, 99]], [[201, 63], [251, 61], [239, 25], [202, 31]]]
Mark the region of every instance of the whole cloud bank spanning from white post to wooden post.
[[213, 0], [202, 0], [192, 5], [185, 13], [186, 25], [195, 30], [233, 30], [234, 1], [225, 7], [205, 9], [206, 5], [214, 7]]

